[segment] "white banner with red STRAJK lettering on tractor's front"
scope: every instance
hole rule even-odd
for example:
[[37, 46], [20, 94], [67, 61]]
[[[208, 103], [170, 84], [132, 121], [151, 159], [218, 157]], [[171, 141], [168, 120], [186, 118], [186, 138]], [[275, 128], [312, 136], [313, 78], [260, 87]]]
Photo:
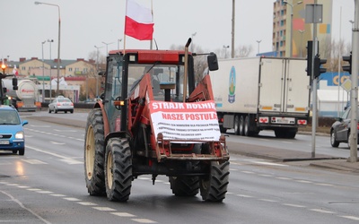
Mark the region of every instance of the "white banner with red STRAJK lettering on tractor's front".
[[167, 140], [219, 141], [215, 101], [192, 103], [151, 101], [153, 132]]

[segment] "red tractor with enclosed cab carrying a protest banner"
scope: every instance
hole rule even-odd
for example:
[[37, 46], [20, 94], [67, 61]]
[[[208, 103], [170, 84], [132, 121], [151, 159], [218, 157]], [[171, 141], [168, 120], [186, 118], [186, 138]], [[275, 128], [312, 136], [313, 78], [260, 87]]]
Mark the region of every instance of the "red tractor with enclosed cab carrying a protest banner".
[[[172, 193], [222, 202], [229, 154], [220, 134], [209, 75], [196, 83], [195, 54], [114, 50], [104, 93], [87, 118], [84, 176], [91, 195], [126, 202], [141, 175], [169, 177]], [[207, 54], [208, 69], [218, 69]]]

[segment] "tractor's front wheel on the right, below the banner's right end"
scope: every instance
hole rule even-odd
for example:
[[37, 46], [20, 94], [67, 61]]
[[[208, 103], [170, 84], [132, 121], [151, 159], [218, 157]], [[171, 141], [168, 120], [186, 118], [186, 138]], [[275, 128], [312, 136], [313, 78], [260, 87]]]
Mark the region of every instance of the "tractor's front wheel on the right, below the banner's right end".
[[209, 202], [222, 202], [227, 192], [230, 162], [222, 164], [212, 161], [210, 163], [209, 174], [201, 177], [199, 189], [202, 199]]

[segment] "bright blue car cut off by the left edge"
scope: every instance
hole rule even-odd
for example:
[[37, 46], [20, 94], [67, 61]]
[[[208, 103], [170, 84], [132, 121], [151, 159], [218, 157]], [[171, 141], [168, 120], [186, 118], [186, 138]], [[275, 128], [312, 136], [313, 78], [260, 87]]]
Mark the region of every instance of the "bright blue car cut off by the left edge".
[[25, 134], [23, 125], [28, 121], [20, 118], [13, 106], [0, 105], [0, 151], [25, 154]]

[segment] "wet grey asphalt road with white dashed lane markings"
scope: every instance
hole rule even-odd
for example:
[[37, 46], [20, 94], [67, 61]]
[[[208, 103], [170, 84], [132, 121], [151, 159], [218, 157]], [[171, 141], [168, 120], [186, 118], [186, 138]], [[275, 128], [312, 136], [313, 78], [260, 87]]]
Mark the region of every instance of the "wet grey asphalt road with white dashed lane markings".
[[[83, 174], [84, 129], [66, 125], [84, 120], [86, 114], [50, 116], [65, 117], [63, 124], [40, 121], [48, 119], [47, 114], [35, 116], [26, 116], [25, 155], [0, 153], [0, 222], [359, 222], [357, 174], [313, 168], [307, 161], [284, 163], [236, 154], [231, 155], [230, 185], [222, 203], [203, 202], [199, 195], [176, 197], [167, 177], [158, 177], [152, 185], [150, 176], [133, 181], [128, 202], [90, 196]], [[262, 144], [257, 138], [242, 139], [237, 141]], [[286, 144], [269, 140], [267, 146]]]

